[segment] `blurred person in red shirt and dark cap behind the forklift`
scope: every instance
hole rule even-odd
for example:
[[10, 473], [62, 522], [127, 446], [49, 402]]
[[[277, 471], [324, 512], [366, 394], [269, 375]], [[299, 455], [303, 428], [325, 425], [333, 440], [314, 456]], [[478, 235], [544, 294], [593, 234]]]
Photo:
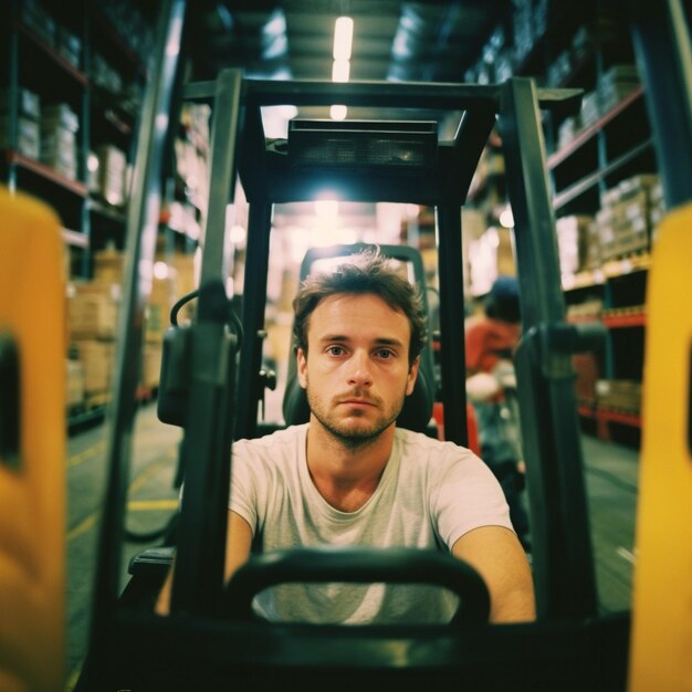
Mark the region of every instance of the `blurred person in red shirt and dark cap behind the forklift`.
[[504, 490], [514, 530], [530, 548], [528, 517], [522, 496], [522, 451], [512, 356], [522, 333], [518, 282], [500, 276], [484, 310], [465, 323], [466, 395], [478, 420], [481, 458]]

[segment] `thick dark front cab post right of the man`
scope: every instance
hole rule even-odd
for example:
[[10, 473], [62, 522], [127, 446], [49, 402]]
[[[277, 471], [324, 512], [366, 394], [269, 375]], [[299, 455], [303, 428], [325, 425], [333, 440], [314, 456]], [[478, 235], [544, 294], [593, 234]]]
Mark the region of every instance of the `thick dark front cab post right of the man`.
[[573, 340], [565, 303], [545, 145], [530, 78], [503, 87], [500, 128], [515, 220], [524, 335], [516, 354], [534, 541], [538, 617], [596, 614]]

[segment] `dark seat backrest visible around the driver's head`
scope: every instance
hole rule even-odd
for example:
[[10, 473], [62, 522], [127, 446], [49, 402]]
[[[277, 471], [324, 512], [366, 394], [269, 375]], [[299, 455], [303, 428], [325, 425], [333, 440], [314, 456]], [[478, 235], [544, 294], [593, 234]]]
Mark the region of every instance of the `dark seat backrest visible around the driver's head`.
[[[350, 245], [332, 245], [329, 248], [314, 248], [307, 251], [301, 265], [301, 281], [304, 281], [313, 270], [313, 265], [319, 260], [334, 258], [347, 258], [357, 254], [361, 250], [376, 248], [367, 243], [354, 243]], [[379, 252], [394, 260], [406, 262], [412, 270], [412, 281], [416, 282], [423, 300], [426, 313], [428, 313], [428, 296], [426, 291], [426, 274], [420, 253], [413, 248], [406, 245], [377, 245]], [[297, 365], [295, 359], [295, 343], [292, 343], [291, 359], [286, 377], [286, 389], [283, 398], [283, 416], [286, 424], [293, 426], [310, 420], [310, 408], [305, 390], [301, 387], [297, 378]], [[397, 426], [416, 432], [429, 431], [432, 418], [432, 406], [436, 399], [434, 369], [432, 348], [430, 340], [420, 354], [420, 367], [413, 391], [406, 398], [401, 413], [397, 419]]]

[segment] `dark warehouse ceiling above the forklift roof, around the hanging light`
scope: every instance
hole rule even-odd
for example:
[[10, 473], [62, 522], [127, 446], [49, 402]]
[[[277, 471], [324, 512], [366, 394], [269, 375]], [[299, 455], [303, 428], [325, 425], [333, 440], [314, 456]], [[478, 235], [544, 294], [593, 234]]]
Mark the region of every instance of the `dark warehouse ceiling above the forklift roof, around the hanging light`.
[[195, 3], [195, 77], [332, 77], [334, 22], [354, 20], [350, 80], [461, 82], [511, 0], [221, 0]]

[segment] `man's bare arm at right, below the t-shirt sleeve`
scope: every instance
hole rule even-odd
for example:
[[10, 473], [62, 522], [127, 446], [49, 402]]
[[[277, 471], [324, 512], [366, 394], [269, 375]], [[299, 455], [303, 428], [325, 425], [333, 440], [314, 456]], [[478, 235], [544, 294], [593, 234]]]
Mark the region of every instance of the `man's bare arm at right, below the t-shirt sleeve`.
[[485, 580], [491, 622], [535, 619], [531, 567], [514, 532], [503, 526], [474, 528], [454, 543], [452, 555], [469, 563]]

